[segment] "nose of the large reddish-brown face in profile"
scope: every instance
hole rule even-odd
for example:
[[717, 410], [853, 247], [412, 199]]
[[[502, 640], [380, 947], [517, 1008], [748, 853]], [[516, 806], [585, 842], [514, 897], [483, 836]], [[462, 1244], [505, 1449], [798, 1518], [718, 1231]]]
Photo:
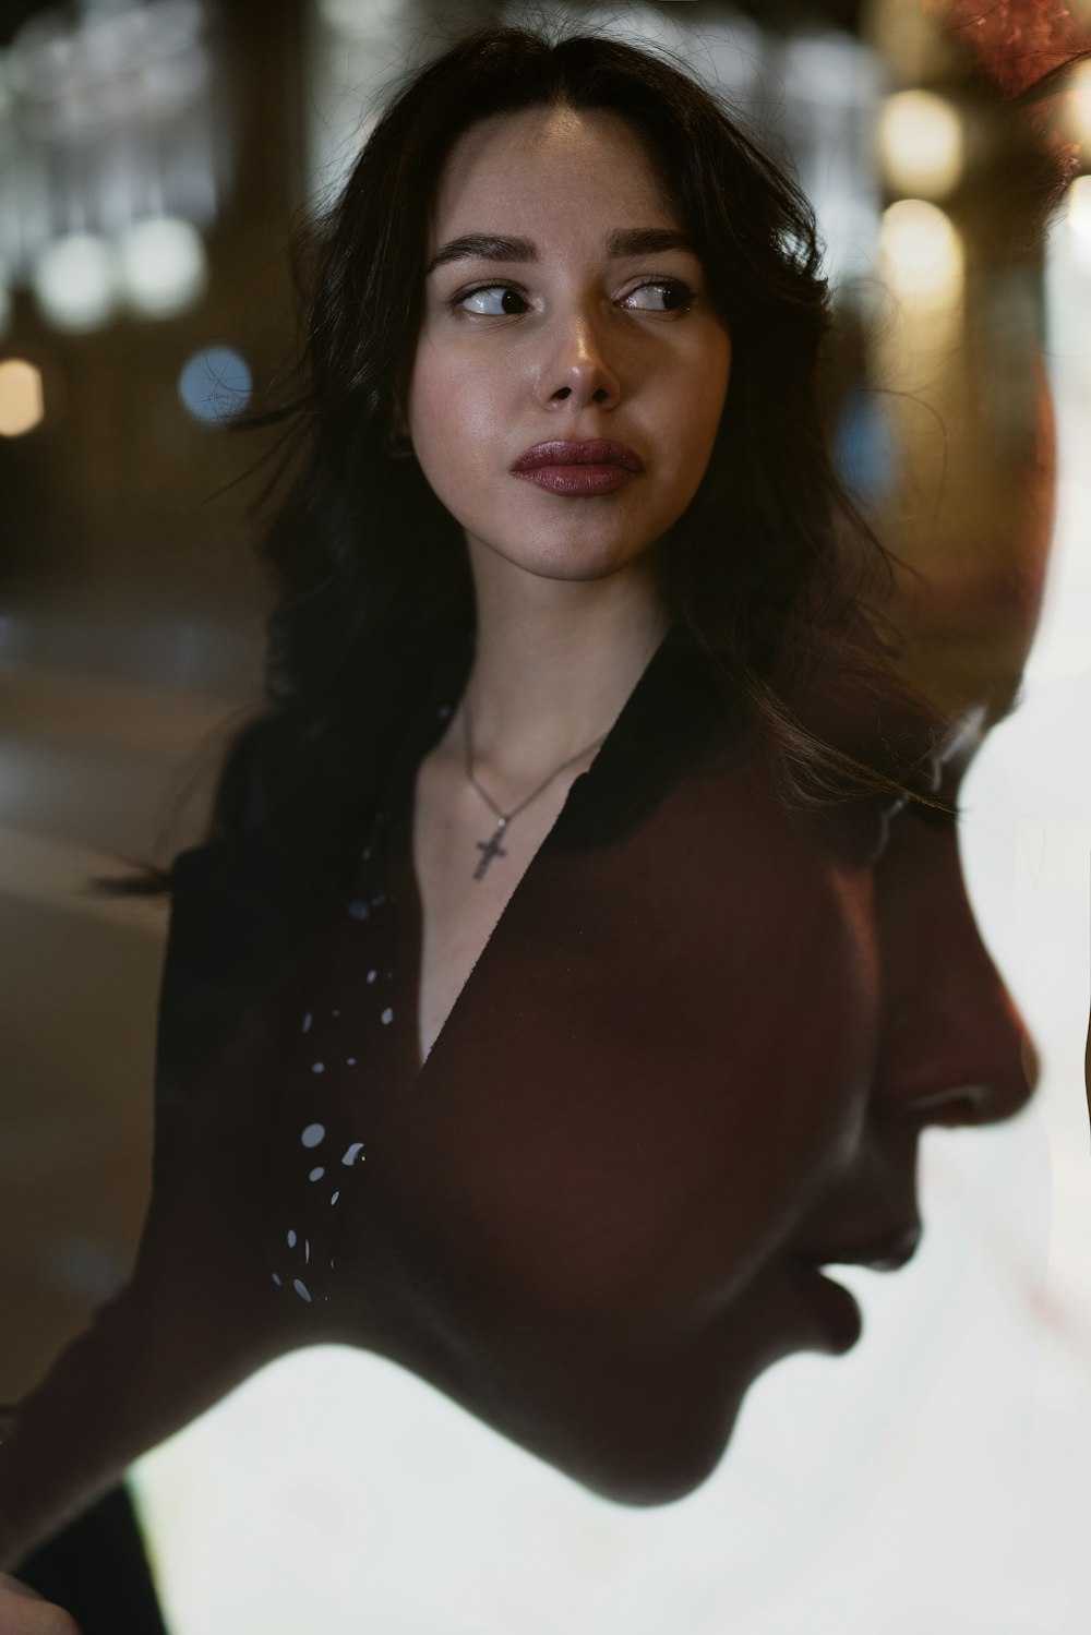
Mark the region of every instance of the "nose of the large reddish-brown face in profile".
[[1034, 1094], [1037, 1056], [981, 942], [955, 835], [905, 835], [901, 855], [891, 845], [880, 863], [875, 891], [883, 991], [877, 1100], [919, 1125], [1014, 1117]]

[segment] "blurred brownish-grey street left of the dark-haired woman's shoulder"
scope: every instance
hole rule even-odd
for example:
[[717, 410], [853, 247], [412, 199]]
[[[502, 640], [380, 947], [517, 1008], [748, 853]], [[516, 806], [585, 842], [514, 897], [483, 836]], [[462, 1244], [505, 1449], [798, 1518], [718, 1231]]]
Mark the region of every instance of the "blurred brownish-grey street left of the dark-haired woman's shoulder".
[[[10, 611], [0, 631], [0, 1400], [11, 1400], [124, 1279], [147, 1200], [167, 912], [95, 881], [200, 837], [260, 633], [257, 620], [229, 638], [211, 620], [157, 629], [126, 615], [82, 618], [74, 639], [59, 610]], [[196, 670], [224, 692], [168, 685]]]

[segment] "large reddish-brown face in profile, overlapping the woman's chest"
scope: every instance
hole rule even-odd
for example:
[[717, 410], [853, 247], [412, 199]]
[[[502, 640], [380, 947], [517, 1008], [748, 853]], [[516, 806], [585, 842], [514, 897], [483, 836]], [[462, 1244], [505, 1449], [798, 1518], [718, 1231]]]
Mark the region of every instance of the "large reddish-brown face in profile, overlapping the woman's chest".
[[[875, 863], [873, 806], [803, 822], [746, 768], [646, 822], [535, 860], [368, 1205], [376, 1349], [625, 1503], [697, 1486], [770, 1364], [854, 1342], [815, 1269], [909, 1257], [921, 1131], [1029, 1094], [954, 827], [903, 813]], [[651, 867], [679, 835], [723, 867]]]

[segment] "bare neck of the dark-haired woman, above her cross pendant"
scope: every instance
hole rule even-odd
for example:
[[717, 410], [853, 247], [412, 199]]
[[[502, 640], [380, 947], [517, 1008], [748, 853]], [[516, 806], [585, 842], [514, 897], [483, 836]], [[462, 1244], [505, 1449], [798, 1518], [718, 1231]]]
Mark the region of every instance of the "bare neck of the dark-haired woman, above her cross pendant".
[[489, 569], [474, 561], [474, 767], [530, 783], [608, 732], [669, 615], [643, 564], [590, 584]]

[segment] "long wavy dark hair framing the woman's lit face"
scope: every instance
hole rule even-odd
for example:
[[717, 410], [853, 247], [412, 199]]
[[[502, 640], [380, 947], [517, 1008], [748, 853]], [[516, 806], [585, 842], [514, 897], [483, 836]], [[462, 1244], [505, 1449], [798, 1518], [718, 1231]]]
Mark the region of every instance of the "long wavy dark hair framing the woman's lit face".
[[558, 105], [620, 114], [638, 132], [733, 337], [713, 455], [662, 553], [667, 610], [767, 729], [797, 793], [846, 770], [887, 783], [808, 731], [798, 708], [819, 656], [828, 674], [854, 677], [857, 697], [890, 685], [869, 613], [888, 564], [833, 469], [818, 409], [829, 299], [808, 201], [666, 52], [492, 28], [401, 88], [304, 240], [301, 383], [263, 417], [291, 433], [263, 543], [276, 585], [270, 708], [227, 757], [214, 835], [263, 829], [335, 852], [375, 800], [429, 662], [466, 651], [465, 536], [389, 438], [443, 160], [479, 119]]

